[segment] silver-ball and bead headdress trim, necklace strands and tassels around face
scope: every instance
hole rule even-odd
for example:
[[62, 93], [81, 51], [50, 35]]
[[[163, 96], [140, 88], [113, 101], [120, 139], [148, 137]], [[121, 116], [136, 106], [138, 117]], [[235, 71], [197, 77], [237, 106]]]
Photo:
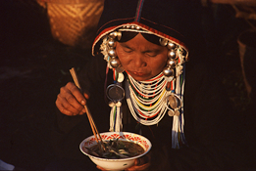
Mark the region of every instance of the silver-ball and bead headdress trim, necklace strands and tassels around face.
[[[147, 81], [136, 81], [129, 74], [126, 79], [126, 91], [121, 86], [125, 71], [117, 57], [116, 41], [120, 40], [123, 31], [134, 31], [155, 34], [143, 27], [127, 23], [110, 30], [103, 37], [100, 46], [107, 68], [113, 69], [114, 84], [107, 88], [107, 97], [112, 107], [110, 114], [110, 131], [122, 131], [122, 100], [128, 102], [129, 110], [135, 120], [143, 125], [154, 125], [161, 121], [167, 112], [173, 116], [172, 148], [179, 149], [185, 144], [183, 126], [183, 91], [184, 91], [184, 63], [187, 61], [188, 51], [181, 44], [159, 34], [159, 43], [169, 49], [168, 61], [163, 72]], [[125, 93], [126, 92], [126, 93]]]

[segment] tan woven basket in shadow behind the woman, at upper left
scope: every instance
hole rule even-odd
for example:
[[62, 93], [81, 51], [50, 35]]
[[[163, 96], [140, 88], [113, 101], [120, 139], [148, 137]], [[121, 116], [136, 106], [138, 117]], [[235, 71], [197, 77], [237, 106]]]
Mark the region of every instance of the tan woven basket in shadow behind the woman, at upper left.
[[37, 0], [47, 8], [55, 39], [70, 46], [89, 48], [95, 38], [104, 0]]

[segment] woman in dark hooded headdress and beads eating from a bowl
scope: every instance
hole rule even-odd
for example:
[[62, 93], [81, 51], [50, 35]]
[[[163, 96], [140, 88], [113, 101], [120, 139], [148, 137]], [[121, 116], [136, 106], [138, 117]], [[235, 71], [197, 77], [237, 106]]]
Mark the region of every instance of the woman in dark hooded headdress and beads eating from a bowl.
[[78, 151], [92, 134], [87, 104], [99, 132], [134, 132], [152, 142], [146, 158], [151, 165], [144, 160], [131, 169], [240, 167], [227, 97], [209, 65], [201, 63], [198, 14], [194, 3], [181, 0], [105, 1], [95, 57], [79, 72], [83, 95], [68, 83], [56, 100], [61, 113], [54, 145], [61, 156], [91, 165]]

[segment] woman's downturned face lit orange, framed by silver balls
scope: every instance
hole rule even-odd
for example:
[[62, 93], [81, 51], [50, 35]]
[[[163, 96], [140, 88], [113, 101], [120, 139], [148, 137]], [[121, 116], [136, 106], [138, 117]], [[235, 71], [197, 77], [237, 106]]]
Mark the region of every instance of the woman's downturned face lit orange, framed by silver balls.
[[168, 59], [167, 47], [147, 41], [140, 33], [127, 42], [117, 42], [116, 52], [122, 66], [137, 81], [158, 75]]

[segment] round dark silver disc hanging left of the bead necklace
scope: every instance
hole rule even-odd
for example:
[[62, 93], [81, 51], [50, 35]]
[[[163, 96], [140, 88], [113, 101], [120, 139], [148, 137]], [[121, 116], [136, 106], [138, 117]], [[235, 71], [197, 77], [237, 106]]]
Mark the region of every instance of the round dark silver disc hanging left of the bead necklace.
[[111, 84], [107, 87], [107, 97], [115, 104], [122, 101], [125, 98], [125, 90], [118, 84]]

